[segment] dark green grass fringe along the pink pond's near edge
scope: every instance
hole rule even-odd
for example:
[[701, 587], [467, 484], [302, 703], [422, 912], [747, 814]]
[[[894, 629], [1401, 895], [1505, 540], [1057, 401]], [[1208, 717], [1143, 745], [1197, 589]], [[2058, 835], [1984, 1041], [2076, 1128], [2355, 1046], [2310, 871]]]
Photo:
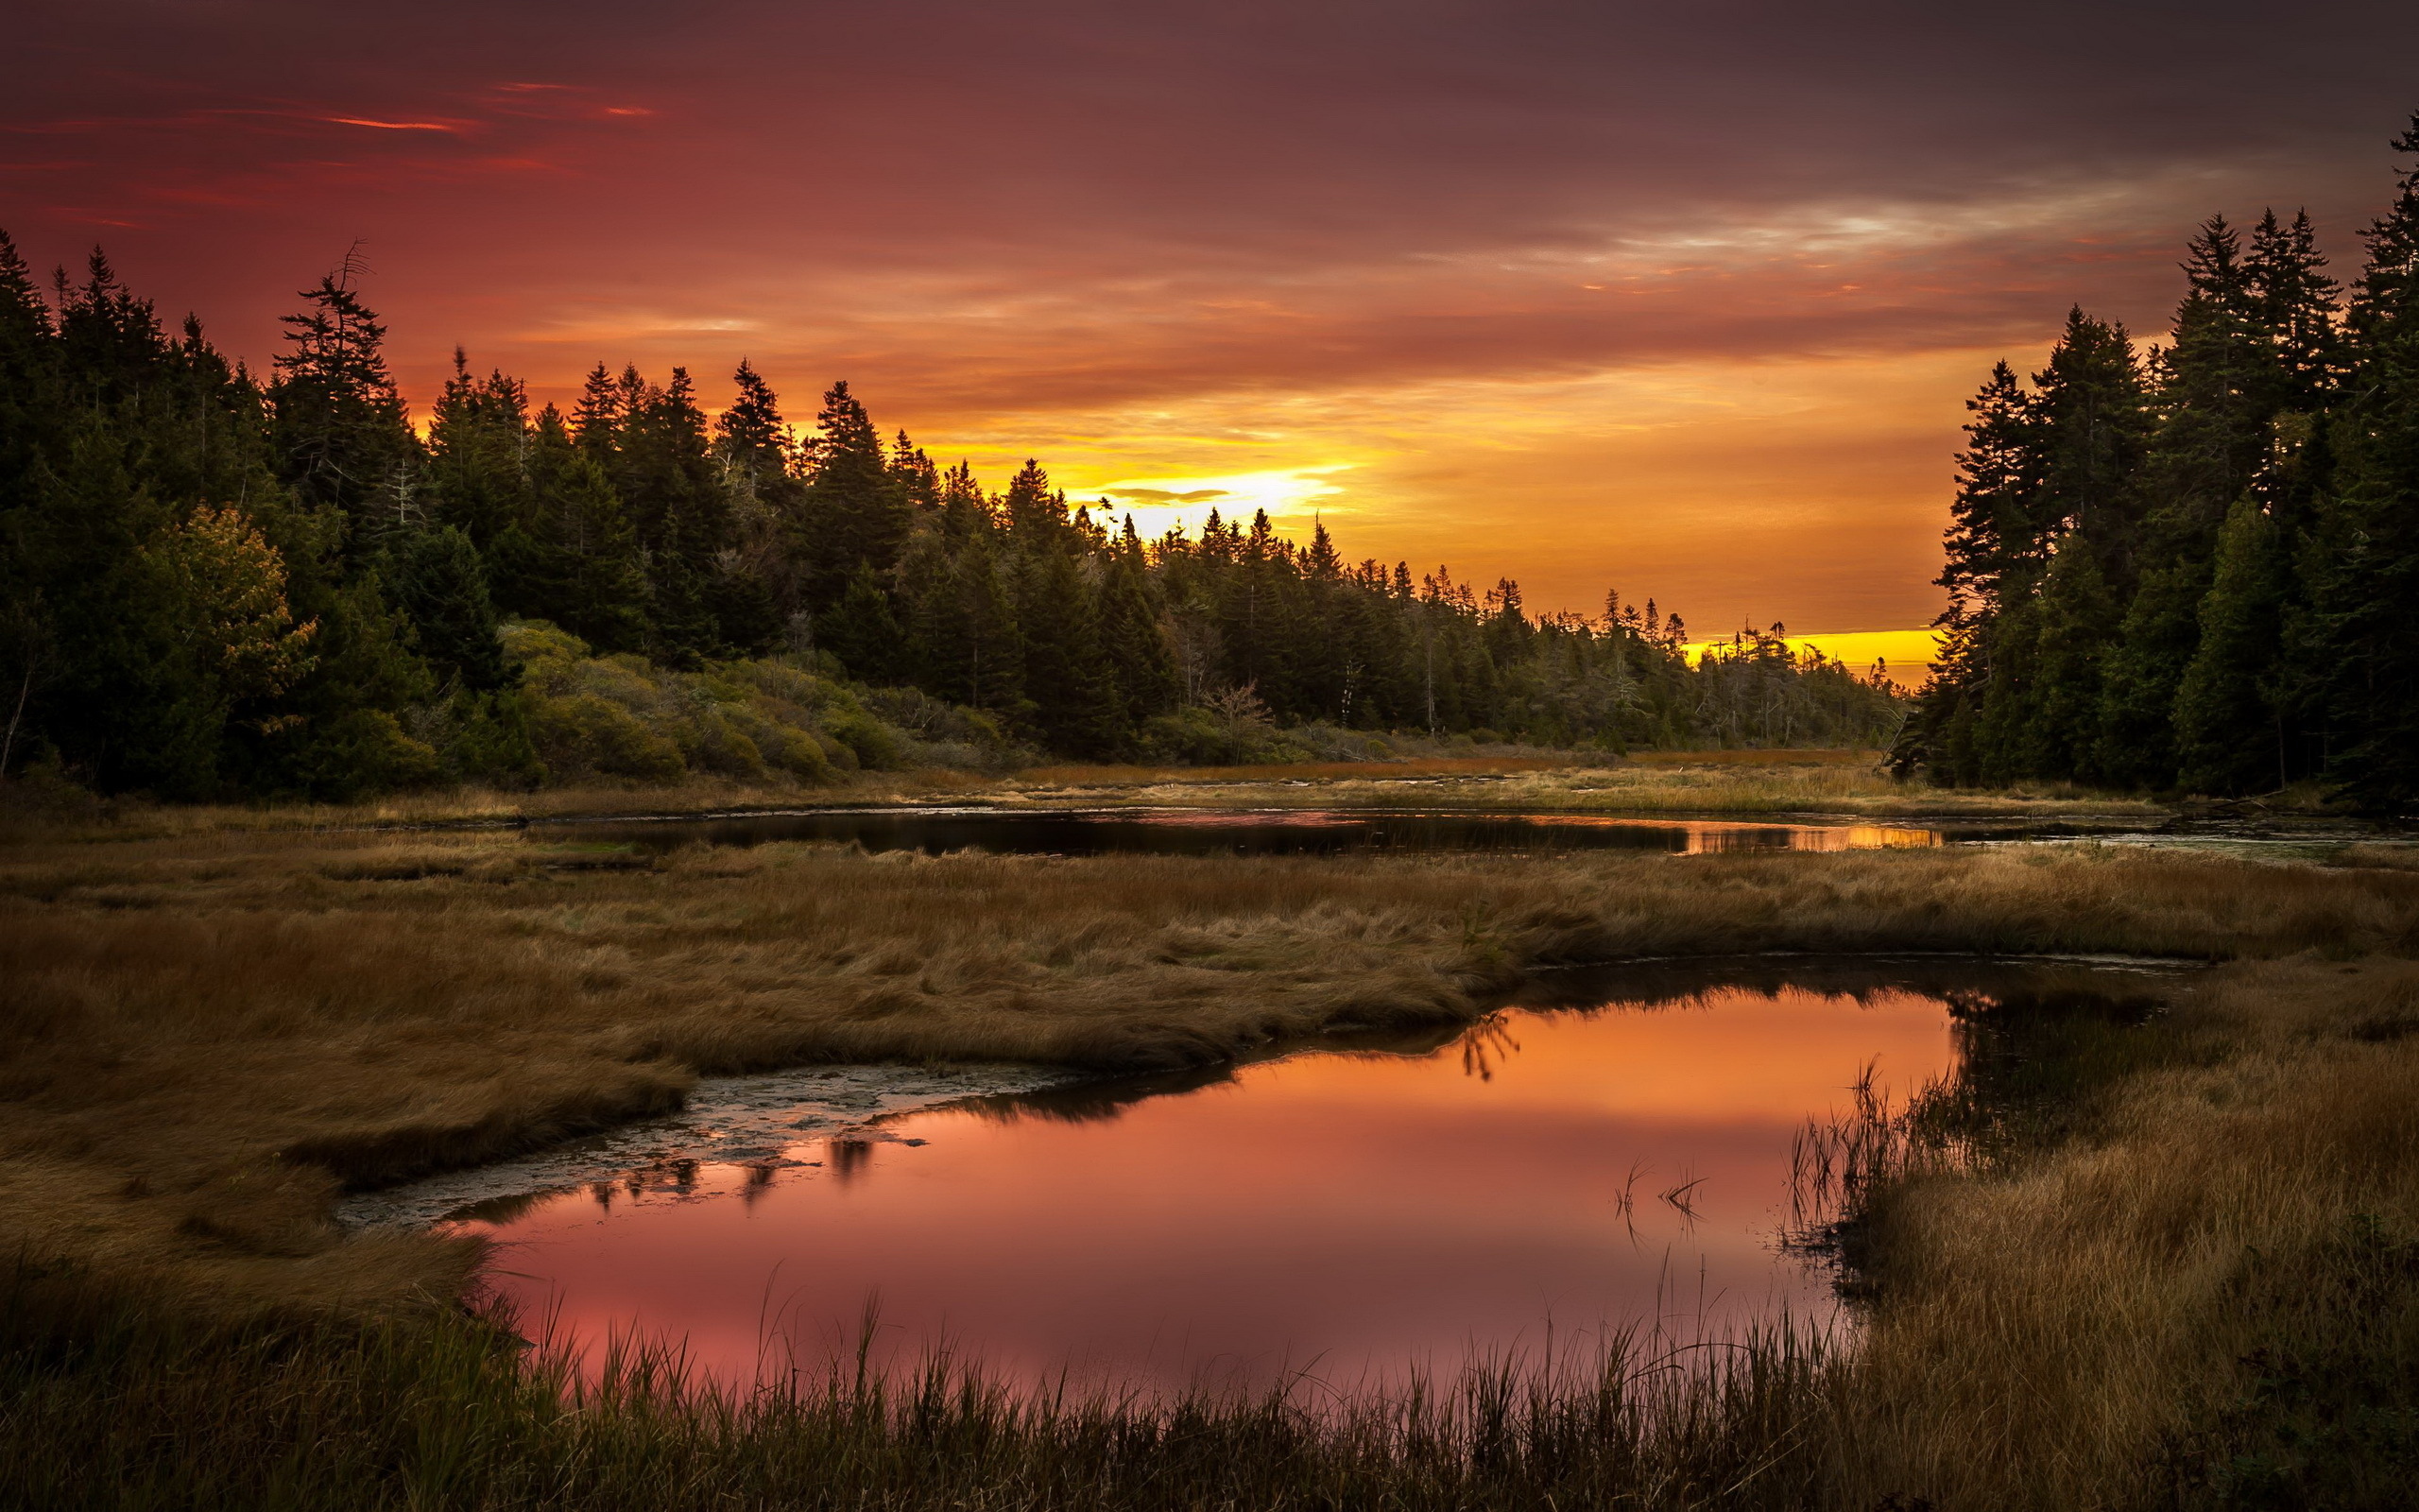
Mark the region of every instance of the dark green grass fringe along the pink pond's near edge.
[[643, 1347], [585, 1379], [462, 1316], [196, 1328], [63, 1277], [10, 1302], [36, 1292], [90, 1318], [0, 1318], [19, 1345], [0, 1360], [0, 1507], [44, 1512], [1792, 1507], [1824, 1459], [1805, 1410], [1836, 1372], [1776, 1340], [1696, 1369], [1616, 1345], [1318, 1403], [1023, 1396], [946, 1360], [728, 1391]]

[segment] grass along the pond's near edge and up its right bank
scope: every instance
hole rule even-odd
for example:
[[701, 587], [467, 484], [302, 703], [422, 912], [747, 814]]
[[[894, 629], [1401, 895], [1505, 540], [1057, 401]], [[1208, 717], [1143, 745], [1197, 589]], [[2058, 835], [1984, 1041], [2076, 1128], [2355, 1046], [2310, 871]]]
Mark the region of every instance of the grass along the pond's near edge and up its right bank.
[[[2419, 965], [2240, 963], [2068, 1026], [2056, 1139], [1877, 1137], [1853, 1338], [1476, 1362], [1398, 1393], [1028, 1396], [934, 1360], [752, 1391], [486, 1318], [196, 1318], [0, 1272], [0, 1507], [2404, 1507]], [[2034, 1045], [2039, 1052], [2042, 1048]], [[1926, 1142], [1930, 1154], [1923, 1154]]]

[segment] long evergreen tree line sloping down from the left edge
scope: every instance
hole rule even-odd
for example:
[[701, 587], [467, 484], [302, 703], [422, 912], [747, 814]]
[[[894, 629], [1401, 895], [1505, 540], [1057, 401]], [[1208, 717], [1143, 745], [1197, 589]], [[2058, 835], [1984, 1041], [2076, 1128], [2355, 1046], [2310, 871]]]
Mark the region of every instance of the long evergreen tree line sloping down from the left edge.
[[513, 622], [576, 636], [544, 641], [556, 673], [566, 646], [786, 658], [1074, 757], [1251, 760], [1314, 723], [1613, 750], [1899, 723], [1887, 682], [1778, 627], [1691, 665], [1652, 600], [1529, 614], [1512, 581], [1347, 564], [1265, 513], [1142, 539], [1035, 462], [994, 494], [883, 438], [844, 382], [806, 435], [752, 365], [733, 387], [709, 416], [682, 368], [600, 363], [566, 414], [457, 351], [421, 431], [351, 259], [256, 375], [99, 252], [46, 293], [0, 237], [0, 772], [184, 798], [535, 781]]

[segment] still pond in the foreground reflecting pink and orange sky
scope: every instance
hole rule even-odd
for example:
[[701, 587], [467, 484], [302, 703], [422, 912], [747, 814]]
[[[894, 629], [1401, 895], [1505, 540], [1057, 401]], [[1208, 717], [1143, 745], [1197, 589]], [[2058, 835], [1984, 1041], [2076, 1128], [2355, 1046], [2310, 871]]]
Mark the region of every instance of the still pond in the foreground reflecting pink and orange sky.
[[[675, 1161], [455, 1219], [520, 1316], [685, 1338], [743, 1379], [948, 1345], [1011, 1379], [1350, 1384], [1788, 1311], [1792, 1139], [1957, 1072], [1950, 1002], [2124, 973], [1628, 968], [1451, 1035], [977, 1098], [747, 1164]], [[2141, 994], [2146, 977], [2126, 977]]]

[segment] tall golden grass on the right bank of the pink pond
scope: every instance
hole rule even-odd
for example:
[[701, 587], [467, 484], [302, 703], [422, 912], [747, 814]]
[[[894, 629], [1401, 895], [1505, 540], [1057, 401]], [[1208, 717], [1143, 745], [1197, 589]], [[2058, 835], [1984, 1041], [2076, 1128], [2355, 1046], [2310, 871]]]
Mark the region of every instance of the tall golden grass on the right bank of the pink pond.
[[2407, 1505], [2419, 965], [2238, 965], [2175, 1011], [2213, 1064], [2126, 1079], [2090, 1139], [2008, 1173], [1887, 1195], [1838, 1396], [1863, 1485], [1942, 1510]]

